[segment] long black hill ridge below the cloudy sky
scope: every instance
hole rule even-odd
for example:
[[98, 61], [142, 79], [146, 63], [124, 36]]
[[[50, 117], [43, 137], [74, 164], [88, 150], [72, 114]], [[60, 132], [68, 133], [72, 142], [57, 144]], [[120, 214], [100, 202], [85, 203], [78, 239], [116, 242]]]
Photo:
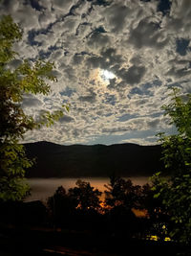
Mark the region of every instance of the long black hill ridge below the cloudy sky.
[[28, 177], [153, 175], [162, 168], [159, 145], [61, 146], [42, 141], [24, 146], [28, 157], [36, 158]]

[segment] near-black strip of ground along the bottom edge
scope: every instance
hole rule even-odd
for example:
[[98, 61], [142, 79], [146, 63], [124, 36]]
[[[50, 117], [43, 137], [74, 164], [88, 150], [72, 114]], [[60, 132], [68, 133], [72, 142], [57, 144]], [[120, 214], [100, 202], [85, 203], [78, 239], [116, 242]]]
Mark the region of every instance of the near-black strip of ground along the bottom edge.
[[86, 231], [0, 227], [0, 255], [191, 255], [188, 245]]

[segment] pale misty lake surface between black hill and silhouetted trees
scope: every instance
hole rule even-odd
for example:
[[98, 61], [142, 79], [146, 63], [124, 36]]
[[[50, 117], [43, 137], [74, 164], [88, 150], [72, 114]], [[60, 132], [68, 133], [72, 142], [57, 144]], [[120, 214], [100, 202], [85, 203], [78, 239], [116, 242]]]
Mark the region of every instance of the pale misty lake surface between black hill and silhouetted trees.
[[[149, 182], [148, 176], [129, 177], [134, 185], [143, 185]], [[55, 190], [59, 186], [63, 186], [66, 190], [75, 186], [76, 177], [63, 177], [63, 178], [29, 178], [28, 183], [32, 189], [31, 196], [26, 201], [42, 200], [46, 201], [47, 198], [53, 196]], [[91, 185], [99, 191], [104, 192], [104, 184], [109, 183], [108, 177], [80, 177], [81, 180], [88, 181]], [[126, 179], [126, 178], [125, 178]]]

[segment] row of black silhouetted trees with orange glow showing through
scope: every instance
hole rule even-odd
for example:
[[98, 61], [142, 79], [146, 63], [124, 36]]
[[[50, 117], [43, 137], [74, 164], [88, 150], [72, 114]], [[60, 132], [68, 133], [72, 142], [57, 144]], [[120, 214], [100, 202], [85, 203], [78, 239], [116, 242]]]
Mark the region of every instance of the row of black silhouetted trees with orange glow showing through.
[[[58, 187], [46, 204], [2, 202], [0, 218], [19, 225], [88, 230], [128, 238], [158, 236], [163, 241], [170, 231], [170, 218], [161, 205], [149, 184], [134, 185], [130, 179], [112, 176], [104, 194], [89, 182], [77, 180], [68, 192]], [[141, 218], [136, 210], [143, 213]]]

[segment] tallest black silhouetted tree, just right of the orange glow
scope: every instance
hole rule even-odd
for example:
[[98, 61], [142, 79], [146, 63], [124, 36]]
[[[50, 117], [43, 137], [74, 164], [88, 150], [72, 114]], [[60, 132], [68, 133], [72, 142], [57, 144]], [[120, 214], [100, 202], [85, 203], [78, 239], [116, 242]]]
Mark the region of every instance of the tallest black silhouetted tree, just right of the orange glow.
[[130, 179], [111, 176], [110, 183], [105, 187], [108, 228], [111, 232], [132, 236], [136, 222], [132, 208], [138, 202], [139, 186], [134, 186]]

